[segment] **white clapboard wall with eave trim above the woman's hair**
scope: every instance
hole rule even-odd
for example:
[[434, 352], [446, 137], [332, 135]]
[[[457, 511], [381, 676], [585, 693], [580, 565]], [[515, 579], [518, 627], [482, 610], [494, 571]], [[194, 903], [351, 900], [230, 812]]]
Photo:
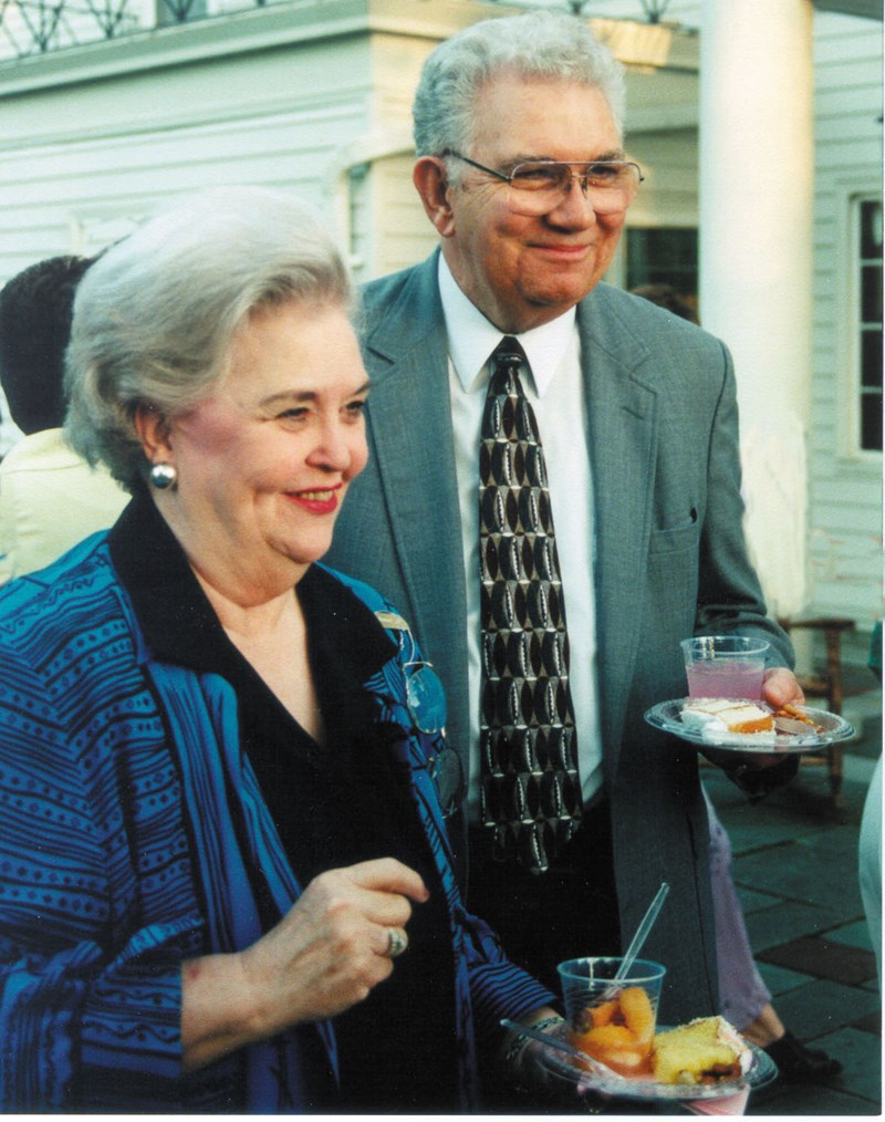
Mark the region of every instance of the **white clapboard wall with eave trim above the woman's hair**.
[[339, 153], [369, 128], [368, 36], [188, 58], [206, 34], [174, 28], [116, 68], [126, 40], [0, 67], [0, 280], [219, 183], [286, 186], [334, 215]]

